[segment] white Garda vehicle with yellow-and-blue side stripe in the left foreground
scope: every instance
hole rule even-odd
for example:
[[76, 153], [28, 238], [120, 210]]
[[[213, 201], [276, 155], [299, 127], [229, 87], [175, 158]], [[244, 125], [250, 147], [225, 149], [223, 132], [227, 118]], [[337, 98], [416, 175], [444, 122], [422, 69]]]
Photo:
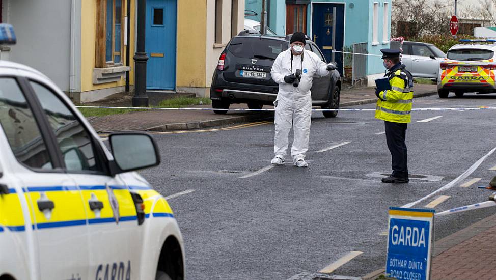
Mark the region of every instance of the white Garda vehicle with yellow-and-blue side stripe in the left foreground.
[[0, 279], [184, 279], [172, 210], [132, 172], [159, 164], [153, 139], [108, 141], [46, 76], [0, 61]]

